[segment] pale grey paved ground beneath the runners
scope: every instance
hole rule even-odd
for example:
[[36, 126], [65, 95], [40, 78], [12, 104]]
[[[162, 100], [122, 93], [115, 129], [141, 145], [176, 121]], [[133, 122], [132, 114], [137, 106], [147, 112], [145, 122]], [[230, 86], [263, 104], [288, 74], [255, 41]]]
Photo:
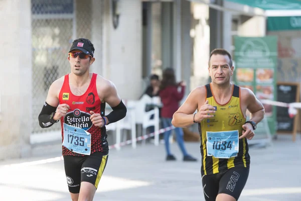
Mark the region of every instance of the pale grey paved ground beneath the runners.
[[[273, 146], [251, 147], [251, 169], [239, 200], [301, 200], [301, 140], [278, 136]], [[110, 150], [107, 167], [94, 200], [192, 201], [205, 200], [200, 174], [200, 144], [186, 143], [198, 162], [183, 162], [179, 147], [171, 148], [178, 160], [165, 161], [164, 146], [152, 144]], [[48, 147], [50, 149], [50, 147]], [[45, 150], [46, 149], [46, 150]], [[60, 156], [60, 145], [44, 148], [45, 156], [3, 161], [0, 165]], [[53, 149], [57, 150], [54, 151]], [[48, 151], [49, 154], [46, 154]], [[26, 167], [0, 167], [0, 200], [71, 200], [63, 161]]]

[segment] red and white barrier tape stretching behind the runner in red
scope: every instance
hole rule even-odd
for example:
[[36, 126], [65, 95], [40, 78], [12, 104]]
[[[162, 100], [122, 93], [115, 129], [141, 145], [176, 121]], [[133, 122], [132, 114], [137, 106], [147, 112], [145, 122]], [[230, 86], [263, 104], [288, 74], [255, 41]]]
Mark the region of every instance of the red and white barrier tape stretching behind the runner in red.
[[[143, 136], [139, 136], [135, 139], [135, 141], [137, 142], [137, 141], [145, 140], [147, 138], [153, 137], [155, 135], [160, 135], [161, 133], [164, 133], [166, 131], [170, 131], [170, 130], [173, 130], [173, 129], [175, 129], [174, 126], [163, 128], [163, 129], [160, 129], [159, 131], [155, 131], [153, 133], [149, 133], [149, 134], [146, 134], [146, 135], [143, 135]], [[121, 142], [119, 144], [110, 145], [109, 149], [125, 146], [125, 145], [128, 145], [128, 144], [131, 144], [132, 142], [133, 142], [133, 140], [127, 140], [127, 141]], [[55, 158], [48, 158], [48, 159], [44, 159], [44, 160], [31, 161], [31, 162], [15, 163], [15, 164], [10, 164], [10, 165], [2, 165], [2, 166], [0, 166], [0, 168], [25, 167], [25, 166], [52, 163], [52, 162], [57, 162], [57, 161], [61, 161], [61, 160], [64, 160], [63, 156], [59, 156], [59, 157], [55, 157]]]

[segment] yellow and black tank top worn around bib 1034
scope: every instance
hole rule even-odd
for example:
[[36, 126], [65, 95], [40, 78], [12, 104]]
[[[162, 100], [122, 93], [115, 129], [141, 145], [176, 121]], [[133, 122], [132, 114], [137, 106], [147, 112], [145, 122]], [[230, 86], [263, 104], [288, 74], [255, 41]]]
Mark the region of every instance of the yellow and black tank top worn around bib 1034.
[[211, 84], [205, 85], [207, 91], [208, 104], [216, 107], [215, 117], [204, 119], [199, 123], [199, 132], [201, 135], [201, 154], [202, 154], [202, 175], [216, 174], [232, 167], [250, 166], [250, 156], [248, 153], [248, 143], [246, 138], [239, 139], [239, 151], [236, 157], [229, 159], [215, 158], [207, 156], [207, 135], [206, 132], [233, 131], [238, 130], [239, 136], [242, 135], [242, 125], [246, 119], [240, 107], [240, 89], [233, 85], [232, 96], [228, 103], [219, 104], [212, 92]]

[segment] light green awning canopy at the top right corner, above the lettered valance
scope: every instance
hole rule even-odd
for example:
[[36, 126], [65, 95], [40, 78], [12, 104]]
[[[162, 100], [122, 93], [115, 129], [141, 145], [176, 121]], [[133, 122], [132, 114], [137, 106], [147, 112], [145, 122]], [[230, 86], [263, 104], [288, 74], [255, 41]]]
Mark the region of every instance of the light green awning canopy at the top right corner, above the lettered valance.
[[[263, 10], [301, 10], [301, 0], [226, 0]], [[300, 11], [301, 12], [301, 11]]]

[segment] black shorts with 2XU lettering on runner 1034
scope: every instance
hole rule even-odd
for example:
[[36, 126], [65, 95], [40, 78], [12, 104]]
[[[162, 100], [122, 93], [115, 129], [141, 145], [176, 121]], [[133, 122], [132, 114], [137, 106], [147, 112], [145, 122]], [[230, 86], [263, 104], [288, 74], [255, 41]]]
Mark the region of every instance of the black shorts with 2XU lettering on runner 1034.
[[215, 201], [219, 193], [225, 193], [238, 200], [249, 176], [249, 168], [232, 167], [224, 172], [202, 176], [206, 201]]

